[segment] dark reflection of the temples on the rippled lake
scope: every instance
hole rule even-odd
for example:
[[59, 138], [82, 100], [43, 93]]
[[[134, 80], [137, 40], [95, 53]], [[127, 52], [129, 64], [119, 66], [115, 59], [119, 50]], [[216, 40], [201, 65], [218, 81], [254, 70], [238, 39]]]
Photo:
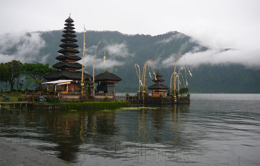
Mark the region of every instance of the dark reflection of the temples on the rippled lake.
[[[133, 143], [170, 141], [170, 144], [178, 145], [182, 140], [182, 130], [185, 130], [179, 116], [186, 116], [188, 112], [189, 105], [134, 111], [27, 110], [17, 112], [20, 114], [17, 118], [7, 118], [4, 124], [19, 122], [20, 126], [14, 129], [12, 137], [49, 142], [49, 145], [39, 146], [58, 152], [56, 155], [61, 159], [73, 161], [81, 145], [111, 149], [122, 140]], [[22, 134], [20, 128], [26, 128], [28, 132]]]

